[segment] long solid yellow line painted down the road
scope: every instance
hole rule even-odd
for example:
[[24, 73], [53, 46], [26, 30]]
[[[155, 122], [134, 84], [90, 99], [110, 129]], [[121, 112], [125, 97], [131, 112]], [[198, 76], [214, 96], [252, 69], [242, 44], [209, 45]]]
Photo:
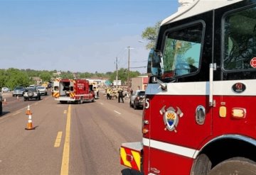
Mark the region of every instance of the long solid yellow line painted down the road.
[[71, 106], [68, 106], [68, 115], [67, 115], [67, 125], [65, 131], [65, 143], [63, 149], [63, 161], [61, 164], [60, 175], [68, 175], [68, 166], [69, 166], [69, 153], [70, 153], [70, 120], [71, 118]]

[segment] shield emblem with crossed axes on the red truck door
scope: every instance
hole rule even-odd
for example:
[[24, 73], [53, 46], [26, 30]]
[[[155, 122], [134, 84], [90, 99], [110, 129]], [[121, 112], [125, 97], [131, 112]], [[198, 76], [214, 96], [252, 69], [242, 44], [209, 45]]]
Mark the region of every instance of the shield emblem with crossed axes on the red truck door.
[[161, 108], [159, 113], [163, 115], [164, 125], [166, 127], [164, 128], [164, 130], [174, 130], [174, 132], [177, 132], [176, 128], [178, 125], [178, 119], [183, 116], [181, 109], [178, 107], [176, 107], [175, 109], [171, 106], [166, 109], [166, 106], [164, 106], [163, 108]]

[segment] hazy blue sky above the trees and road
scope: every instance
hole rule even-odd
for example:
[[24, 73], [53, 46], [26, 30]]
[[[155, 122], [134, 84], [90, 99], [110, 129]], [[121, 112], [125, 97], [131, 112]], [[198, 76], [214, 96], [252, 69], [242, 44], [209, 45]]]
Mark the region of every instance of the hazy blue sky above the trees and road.
[[0, 0], [0, 69], [114, 72], [129, 52], [130, 71], [146, 73], [142, 33], [177, 10], [178, 0]]

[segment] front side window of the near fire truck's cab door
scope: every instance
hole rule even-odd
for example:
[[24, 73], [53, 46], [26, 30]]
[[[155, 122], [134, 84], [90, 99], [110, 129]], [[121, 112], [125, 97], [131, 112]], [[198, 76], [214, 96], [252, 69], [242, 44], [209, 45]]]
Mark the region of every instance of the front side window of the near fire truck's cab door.
[[202, 48], [203, 23], [166, 31], [161, 79], [189, 76], [198, 71]]

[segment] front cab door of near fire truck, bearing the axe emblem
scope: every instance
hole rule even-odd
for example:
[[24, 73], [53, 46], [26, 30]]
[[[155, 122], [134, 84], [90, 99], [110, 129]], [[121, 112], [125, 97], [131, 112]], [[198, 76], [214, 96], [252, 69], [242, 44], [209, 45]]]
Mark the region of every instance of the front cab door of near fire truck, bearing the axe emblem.
[[[167, 88], [148, 84], [146, 89], [150, 97], [145, 114], [145, 118], [149, 115], [149, 136], [144, 137], [144, 146], [153, 174], [189, 174], [193, 159], [211, 134], [213, 11], [184, 19], [178, 25], [166, 24], [159, 32], [157, 46], [164, 65], [159, 79]], [[161, 38], [165, 38], [164, 43]], [[182, 169], [176, 168], [181, 164]]]

